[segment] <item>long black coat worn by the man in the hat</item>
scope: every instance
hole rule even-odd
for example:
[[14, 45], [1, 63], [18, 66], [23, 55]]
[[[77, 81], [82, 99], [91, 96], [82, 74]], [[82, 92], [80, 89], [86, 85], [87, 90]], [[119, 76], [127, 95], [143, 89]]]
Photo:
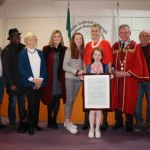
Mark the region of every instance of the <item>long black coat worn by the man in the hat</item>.
[[[6, 80], [6, 91], [10, 94], [22, 94], [19, 79], [19, 53], [25, 47], [23, 44], [8, 44], [2, 51], [3, 75]], [[10, 86], [15, 85], [16, 91]]]

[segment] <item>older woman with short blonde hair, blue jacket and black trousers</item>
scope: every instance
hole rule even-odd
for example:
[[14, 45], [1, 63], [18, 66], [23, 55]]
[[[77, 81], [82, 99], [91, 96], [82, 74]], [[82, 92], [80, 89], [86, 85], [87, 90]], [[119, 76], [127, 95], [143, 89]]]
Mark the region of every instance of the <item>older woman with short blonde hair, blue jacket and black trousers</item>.
[[42, 89], [47, 81], [45, 58], [41, 50], [36, 49], [37, 36], [28, 32], [24, 38], [26, 48], [19, 55], [19, 72], [21, 87], [28, 100], [29, 135], [34, 135], [38, 126], [39, 107]]

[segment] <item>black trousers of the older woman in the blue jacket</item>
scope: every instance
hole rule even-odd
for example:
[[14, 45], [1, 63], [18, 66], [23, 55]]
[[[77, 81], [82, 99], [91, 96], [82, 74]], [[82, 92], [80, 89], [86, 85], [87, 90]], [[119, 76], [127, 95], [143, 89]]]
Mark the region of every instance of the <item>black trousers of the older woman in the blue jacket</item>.
[[39, 109], [42, 89], [34, 90], [33, 88], [23, 88], [23, 91], [28, 101], [28, 124], [29, 128], [35, 128], [38, 126], [39, 121]]

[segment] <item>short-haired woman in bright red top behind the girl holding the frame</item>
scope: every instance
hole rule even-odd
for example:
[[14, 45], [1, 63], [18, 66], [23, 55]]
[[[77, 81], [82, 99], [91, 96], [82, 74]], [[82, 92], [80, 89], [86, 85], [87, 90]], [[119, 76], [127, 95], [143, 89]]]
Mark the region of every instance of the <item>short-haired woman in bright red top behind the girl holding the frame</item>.
[[[93, 48], [99, 47], [103, 50], [104, 53], [102, 63], [108, 65], [108, 71], [109, 73], [111, 73], [112, 49], [110, 43], [107, 40], [103, 39], [102, 27], [100, 24], [95, 23], [91, 26], [91, 37], [92, 37], [92, 41], [88, 42], [85, 46], [84, 56], [83, 56], [83, 67], [86, 68], [87, 65], [91, 64], [91, 53], [93, 51]], [[101, 125], [102, 131], [105, 131], [108, 127], [107, 115], [108, 115], [108, 111], [103, 110], [103, 123]], [[82, 126], [83, 130], [89, 128], [88, 118], [89, 118], [89, 111], [86, 110], [85, 121]]]

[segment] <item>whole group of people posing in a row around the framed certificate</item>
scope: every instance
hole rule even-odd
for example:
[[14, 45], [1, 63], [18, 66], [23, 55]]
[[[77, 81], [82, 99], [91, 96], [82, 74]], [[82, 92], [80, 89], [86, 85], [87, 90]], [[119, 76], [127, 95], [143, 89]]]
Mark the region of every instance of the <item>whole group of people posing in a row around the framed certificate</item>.
[[[123, 24], [118, 29], [119, 41], [111, 47], [107, 40], [102, 39], [101, 26], [93, 24], [91, 42], [84, 46], [83, 35], [75, 32], [70, 48], [67, 48], [62, 33], [54, 30], [49, 44], [42, 51], [36, 49], [38, 39], [34, 33], [27, 33], [25, 45], [20, 43], [20, 34], [16, 28], [10, 29], [10, 44], [2, 51], [3, 76], [9, 95], [10, 127], [16, 126], [15, 106], [18, 100], [20, 123], [17, 131], [24, 133], [28, 130], [29, 135], [34, 135], [35, 130], [42, 130], [38, 125], [41, 99], [47, 105], [48, 127], [57, 129], [57, 114], [62, 98], [65, 103], [64, 127], [76, 134], [78, 128], [70, 118], [84, 73], [109, 73], [111, 108], [102, 111], [102, 124], [100, 110], [85, 110], [82, 129], [90, 127], [88, 137], [100, 138], [100, 130], [105, 131], [108, 127], [108, 111], [115, 111], [114, 130], [123, 126], [122, 113], [125, 113], [127, 132], [133, 131], [134, 114], [137, 119], [135, 131], [140, 131], [145, 92], [148, 101], [146, 127], [150, 132], [150, 31], [143, 30], [139, 36], [141, 43], [137, 44], [130, 39], [130, 27]], [[25, 108], [26, 98], [28, 111]]]

